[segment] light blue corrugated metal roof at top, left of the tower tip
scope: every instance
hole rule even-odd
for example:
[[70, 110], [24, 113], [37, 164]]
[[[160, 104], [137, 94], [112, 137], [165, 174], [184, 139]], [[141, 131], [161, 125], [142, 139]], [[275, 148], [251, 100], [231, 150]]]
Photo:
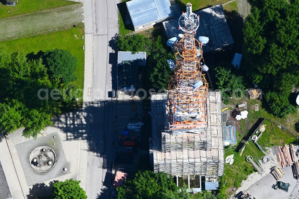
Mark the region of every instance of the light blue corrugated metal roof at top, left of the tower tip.
[[132, 0], [126, 4], [134, 27], [173, 16], [169, 0]]

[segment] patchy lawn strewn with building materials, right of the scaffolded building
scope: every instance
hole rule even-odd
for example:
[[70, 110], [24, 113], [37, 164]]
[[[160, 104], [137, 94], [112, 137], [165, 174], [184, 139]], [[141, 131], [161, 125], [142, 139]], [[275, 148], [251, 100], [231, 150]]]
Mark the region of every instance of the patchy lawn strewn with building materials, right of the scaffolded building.
[[[231, 100], [232, 105], [240, 104], [246, 101], [246, 98], [242, 98], [240, 100]], [[259, 104], [259, 111], [254, 111], [254, 105]], [[283, 125], [286, 125], [287, 128], [291, 129], [295, 133], [294, 123], [299, 120], [299, 114], [289, 114], [286, 118], [278, 118], [269, 114], [265, 108], [262, 107], [262, 102], [260, 100], [247, 100], [247, 111], [248, 111], [248, 118], [245, 120], [241, 120], [240, 122], [236, 121], [236, 126], [240, 126], [239, 128], [244, 131], [243, 134], [248, 133], [248, 129], [250, 129], [254, 123], [257, 121], [259, 117], [266, 117], [266, 120], [263, 124], [266, 125], [266, 130], [264, 131], [263, 135], [257, 141], [257, 143], [262, 147], [271, 147], [274, 145], [284, 145], [289, 143], [297, 143], [297, 137], [293, 134], [289, 133], [288, 131], [283, 131], [282, 129], [278, 128], [278, 126], [274, 123], [274, 129], [271, 125], [270, 119], [275, 120]], [[237, 124], [238, 123], [238, 124]], [[242, 136], [237, 133], [237, 144], [242, 139]], [[237, 145], [236, 145], [237, 146]], [[245, 146], [244, 152], [242, 156], [240, 156], [238, 152], [235, 151], [235, 148], [229, 149], [228, 147], [225, 148], [225, 157], [228, 155], [234, 154], [234, 163], [230, 166], [229, 164], [225, 164], [224, 166], [224, 179], [227, 181], [227, 193], [232, 194], [232, 189], [234, 187], [238, 188], [241, 185], [242, 180], [246, 180], [247, 176], [254, 172], [253, 166], [248, 163], [245, 158], [246, 155], [251, 155], [252, 157], [256, 157], [260, 159], [263, 157], [264, 154], [260, 152], [258, 147], [252, 142], [249, 141]]]

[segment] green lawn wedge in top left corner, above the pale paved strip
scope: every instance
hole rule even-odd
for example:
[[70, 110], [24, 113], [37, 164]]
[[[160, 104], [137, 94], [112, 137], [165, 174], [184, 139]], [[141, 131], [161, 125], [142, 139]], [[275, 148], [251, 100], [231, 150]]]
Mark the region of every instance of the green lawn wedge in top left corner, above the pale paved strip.
[[[73, 4], [77, 4], [77, 2], [66, 0], [19, 0], [16, 7], [0, 4], [0, 19]], [[10, 13], [7, 12], [8, 10], [10, 10]]]

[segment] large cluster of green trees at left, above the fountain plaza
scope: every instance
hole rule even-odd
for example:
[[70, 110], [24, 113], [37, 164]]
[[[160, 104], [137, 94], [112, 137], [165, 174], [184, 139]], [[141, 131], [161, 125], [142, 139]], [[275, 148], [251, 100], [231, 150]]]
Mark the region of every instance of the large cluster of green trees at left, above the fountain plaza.
[[[74, 80], [72, 75], [75, 75], [77, 59], [59, 49], [45, 54], [47, 56], [43, 59], [50, 64], [50, 70], [43, 65], [41, 58], [28, 60], [24, 52], [18, 51], [8, 54], [6, 48], [0, 45], [2, 132], [12, 133], [17, 128], [24, 127], [24, 137], [36, 138], [46, 125], [52, 124], [54, 106], [60, 106], [61, 102], [66, 105], [75, 103], [76, 97], [81, 95], [77, 86], [68, 85], [68, 81]], [[61, 78], [63, 82], [60, 81]], [[53, 89], [60, 91], [60, 99], [51, 98]]]

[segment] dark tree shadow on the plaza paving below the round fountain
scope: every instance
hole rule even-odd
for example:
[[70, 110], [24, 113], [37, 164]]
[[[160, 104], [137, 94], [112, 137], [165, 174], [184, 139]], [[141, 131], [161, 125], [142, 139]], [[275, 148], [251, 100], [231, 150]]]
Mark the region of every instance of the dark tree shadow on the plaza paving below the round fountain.
[[45, 183], [36, 183], [29, 189], [28, 199], [36, 199], [37, 197], [48, 198], [51, 196], [52, 186], [58, 180], [51, 181], [48, 185]]

